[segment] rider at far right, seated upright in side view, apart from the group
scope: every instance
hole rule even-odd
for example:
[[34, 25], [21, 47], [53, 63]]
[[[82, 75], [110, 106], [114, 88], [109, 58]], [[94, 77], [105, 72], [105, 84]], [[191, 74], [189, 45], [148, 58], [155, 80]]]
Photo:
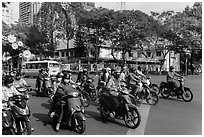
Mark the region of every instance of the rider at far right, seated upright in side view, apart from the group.
[[[176, 84], [176, 82], [178, 78], [183, 78], [183, 77], [175, 72], [174, 66], [170, 66], [166, 78], [167, 78], [166, 80], [168, 84], [170, 85], [170, 87], [172, 87], [172, 89], [177, 89], [178, 85]], [[178, 94], [178, 92], [176, 92], [176, 94]]]

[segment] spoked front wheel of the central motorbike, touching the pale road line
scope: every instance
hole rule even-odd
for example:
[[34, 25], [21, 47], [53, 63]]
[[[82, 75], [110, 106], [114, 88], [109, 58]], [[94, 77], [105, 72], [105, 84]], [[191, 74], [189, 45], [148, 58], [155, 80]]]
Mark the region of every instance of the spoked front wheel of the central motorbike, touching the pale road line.
[[137, 128], [141, 123], [141, 115], [138, 109], [129, 108], [129, 111], [124, 115], [124, 122], [128, 128]]

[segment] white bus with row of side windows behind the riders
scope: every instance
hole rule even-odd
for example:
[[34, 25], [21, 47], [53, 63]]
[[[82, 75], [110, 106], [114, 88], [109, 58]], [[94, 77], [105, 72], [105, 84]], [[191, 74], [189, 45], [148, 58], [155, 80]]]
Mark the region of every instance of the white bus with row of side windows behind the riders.
[[43, 61], [28, 61], [22, 64], [22, 74], [24, 77], [36, 77], [39, 70], [42, 68], [49, 68], [49, 75], [57, 75], [61, 71], [60, 64], [57, 61], [43, 60]]

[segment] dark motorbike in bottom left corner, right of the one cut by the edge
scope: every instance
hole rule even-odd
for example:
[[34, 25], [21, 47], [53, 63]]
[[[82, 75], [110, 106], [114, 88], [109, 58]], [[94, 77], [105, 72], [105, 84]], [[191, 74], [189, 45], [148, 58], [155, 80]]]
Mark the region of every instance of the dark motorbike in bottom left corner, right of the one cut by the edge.
[[19, 135], [31, 135], [31, 123], [30, 123], [30, 108], [27, 105], [24, 95], [14, 95], [9, 98], [9, 101], [13, 102], [11, 106], [12, 114], [15, 119], [17, 134]]

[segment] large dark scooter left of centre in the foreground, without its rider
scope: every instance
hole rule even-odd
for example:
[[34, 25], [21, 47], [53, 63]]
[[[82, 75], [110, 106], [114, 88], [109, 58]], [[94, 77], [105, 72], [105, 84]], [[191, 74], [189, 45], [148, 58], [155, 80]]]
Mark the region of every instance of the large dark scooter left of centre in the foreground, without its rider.
[[55, 124], [60, 123], [60, 125], [63, 124], [71, 127], [79, 134], [85, 131], [86, 119], [84, 116], [84, 107], [79, 98], [79, 92], [69, 92], [68, 95], [62, 97], [60, 107], [57, 107], [55, 110], [53, 121]]

